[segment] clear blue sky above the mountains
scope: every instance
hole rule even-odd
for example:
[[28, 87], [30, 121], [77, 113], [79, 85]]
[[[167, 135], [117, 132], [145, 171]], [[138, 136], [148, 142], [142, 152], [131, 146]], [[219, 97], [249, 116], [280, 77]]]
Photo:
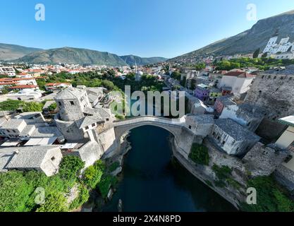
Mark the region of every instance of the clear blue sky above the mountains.
[[[0, 0], [0, 42], [81, 47], [118, 55], [176, 57], [294, 9], [291, 0]], [[46, 20], [35, 20], [44, 4]]]

